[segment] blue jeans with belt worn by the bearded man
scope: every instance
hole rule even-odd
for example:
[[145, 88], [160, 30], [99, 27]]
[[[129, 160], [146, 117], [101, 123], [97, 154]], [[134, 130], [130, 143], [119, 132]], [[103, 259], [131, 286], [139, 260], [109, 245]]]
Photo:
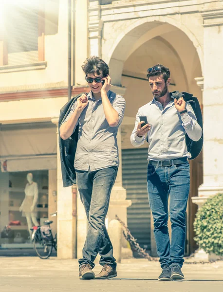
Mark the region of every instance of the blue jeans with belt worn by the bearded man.
[[[177, 263], [183, 266], [186, 239], [186, 205], [190, 187], [188, 162], [147, 168], [149, 205], [154, 220], [154, 237], [161, 268]], [[168, 234], [168, 197], [171, 221], [171, 244]]]

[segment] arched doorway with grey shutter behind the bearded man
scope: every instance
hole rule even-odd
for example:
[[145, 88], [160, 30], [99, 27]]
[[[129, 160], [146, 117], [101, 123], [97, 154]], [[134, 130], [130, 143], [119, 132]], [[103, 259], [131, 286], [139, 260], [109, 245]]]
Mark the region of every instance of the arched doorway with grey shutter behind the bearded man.
[[[178, 90], [193, 93], [202, 104], [202, 91], [195, 81], [196, 77], [202, 76], [201, 46], [196, 42], [196, 37], [191, 32], [186, 34], [186, 27], [184, 27], [183, 31], [178, 27], [179, 25], [173, 25], [169, 18], [165, 19], [163, 17], [163, 20], [168, 20], [168, 22], [138, 20], [139, 25], [133, 23], [132, 27], [124, 29], [120, 36], [117, 37], [116, 46], [112, 48], [113, 51], [110, 51], [109, 66], [111, 68], [112, 82], [115, 85], [127, 88], [125, 94], [127, 102], [125, 118], [126, 120], [128, 119], [128, 122], [125, 123], [124, 121], [122, 126], [122, 131], [125, 135], [130, 136], [137, 110], [152, 99], [146, 72], [149, 67], [156, 63], [169, 67], [171, 72], [170, 91]], [[137, 170], [133, 169], [137, 157], [142, 159], [141, 156], [145, 156], [145, 147], [147, 147], [146, 144], [142, 146], [142, 150], [139, 150], [133, 149], [130, 143], [122, 144], [123, 186], [127, 189], [127, 199], [132, 200], [132, 206], [128, 209], [128, 224], [130, 230], [134, 230], [132, 233], [136, 238], [141, 238], [141, 233], [145, 226], [150, 228], [149, 221], [147, 225], [145, 222], [147, 216], [143, 216], [148, 208], [148, 205], [145, 204], [147, 196], [145, 192], [146, 175], [140, 181], [141, 184], [144, 183], [145, 189], [139, 190], [137, 173], [140, 173], [140, 177], [142, 177], [142, 169], [139, 164], [137, 164]], [[132, 161], [132, 170], [129, 169], [130, 160]], [[197, 196], [198, 187], [203, 183], [202, 154], [196, 160], [191, 161], [190, 164], [191, 198]], [[129, 171], [133, 171], [133, 176], [129, 175]], [[125, 175], [127, 173], [130, 177], [129, 180], [128, 176]], [[139, 193], [141, 196], [139, 196]], [[190, 254], [197, 248], [193, 240], [193, 221], [197, 208], [190, 198], [187, 208], [186, 254]], [[144, 247], [151, 246], [151, 242], [148, 245], [145, 244], [148, 240], [150, 240], [149, 237], [147, 239], [142, 238], [141, 242]]]

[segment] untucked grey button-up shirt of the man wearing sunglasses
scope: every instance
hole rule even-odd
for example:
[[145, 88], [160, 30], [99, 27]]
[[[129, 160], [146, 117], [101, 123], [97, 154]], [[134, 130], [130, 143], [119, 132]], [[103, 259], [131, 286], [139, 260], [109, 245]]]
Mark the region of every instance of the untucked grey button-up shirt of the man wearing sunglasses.
[[[90, 168], [91, 171], [95, 171], [110, 166], [119, 166], [116, 136], [118, 126], [124, 116], [126, 102], [124, 97], [112, 91], [108, 91], [108, 97], [113, 109], [118, 112], [119, 123], [116, 127], [109, 126], [105, 118], [102, 100], [96, 101], [90, 91], [88, 105], [81, 112], [78, 121], [79, 135], [74, 159], [74, 168], [77, 170], [88, 171]], [[64, 123], [74, 113], [76, 105], [75, 101]]]

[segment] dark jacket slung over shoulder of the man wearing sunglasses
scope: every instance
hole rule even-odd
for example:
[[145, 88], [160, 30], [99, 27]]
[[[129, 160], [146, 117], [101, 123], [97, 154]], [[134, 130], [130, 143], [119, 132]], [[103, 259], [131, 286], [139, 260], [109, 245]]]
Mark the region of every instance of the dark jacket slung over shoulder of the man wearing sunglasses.
[[[74, 102], [82, 93], [74, 96], [65, 106], [60, 110], [58, 127], [64, 122], [67, 115], [69, 114]], [[78, 141], [78, 130], [79, 125], [77, 125], [74, 133], [66, 140], [60, 138], [59, 135], [59, 152], [61, 161], [61, 171], [63, 186], [71, 186], [76, 183], [76, 173], [74, 169], [74, 157], [76, 153], [76, 146]]]

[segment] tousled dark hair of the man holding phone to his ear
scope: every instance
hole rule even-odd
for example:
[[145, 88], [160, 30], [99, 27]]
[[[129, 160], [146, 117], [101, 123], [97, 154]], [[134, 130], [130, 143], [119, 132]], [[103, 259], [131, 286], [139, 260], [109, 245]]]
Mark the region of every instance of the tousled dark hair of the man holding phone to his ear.
[[87, 58], [81, 68], [86, 75], [100, 75], [100, 71], [102, 71], [103, 76], [109, 74], [109, 66], [105, 63], [105, 61], [96, 56]]

